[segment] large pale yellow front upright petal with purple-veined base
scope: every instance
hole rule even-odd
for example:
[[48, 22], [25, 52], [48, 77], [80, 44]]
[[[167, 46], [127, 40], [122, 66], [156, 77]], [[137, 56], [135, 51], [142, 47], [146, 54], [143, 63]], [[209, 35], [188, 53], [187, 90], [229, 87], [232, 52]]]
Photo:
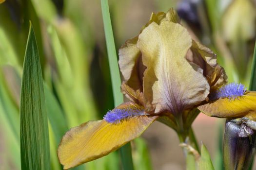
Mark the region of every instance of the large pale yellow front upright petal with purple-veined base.
[[147, 67], [143, 77], [143, 95], [155, 105], [156, 113], [175, 115], [205, 100], [209, 84], [203, 70], [185, 56], [192, 46], [189, 33], [180, 24], [151, 23], [139, 35], [137, 47]]

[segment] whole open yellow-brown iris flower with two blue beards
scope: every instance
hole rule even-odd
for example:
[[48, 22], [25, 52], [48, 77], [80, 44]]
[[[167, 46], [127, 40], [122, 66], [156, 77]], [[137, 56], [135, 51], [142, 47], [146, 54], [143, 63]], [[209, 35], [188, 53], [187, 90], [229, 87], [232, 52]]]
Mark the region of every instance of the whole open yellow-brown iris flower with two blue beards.
[[243, 85], [224, 85], [227, 76], [216, 54], [191, 38], [173, 9], [153, 13], [140, 33], [125, 42], [119, 68], [121, 89], [129, 101], [102, 120], [83, 123], [63, 136], [58, 156], [64, 169], [117, 150], [155, 120], [184, 139], [198, 109], [221, 118], [256, 111], [256, 94]]

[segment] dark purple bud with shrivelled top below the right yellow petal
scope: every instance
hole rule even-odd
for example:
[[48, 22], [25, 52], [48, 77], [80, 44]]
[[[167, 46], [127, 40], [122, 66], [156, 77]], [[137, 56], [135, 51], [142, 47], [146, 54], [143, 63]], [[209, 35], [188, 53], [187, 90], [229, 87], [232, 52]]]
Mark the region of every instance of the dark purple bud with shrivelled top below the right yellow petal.
[[256, 133], [244, 119], [226, 122], [223, 156], [226, 170], [248, 170], [255, 153]]

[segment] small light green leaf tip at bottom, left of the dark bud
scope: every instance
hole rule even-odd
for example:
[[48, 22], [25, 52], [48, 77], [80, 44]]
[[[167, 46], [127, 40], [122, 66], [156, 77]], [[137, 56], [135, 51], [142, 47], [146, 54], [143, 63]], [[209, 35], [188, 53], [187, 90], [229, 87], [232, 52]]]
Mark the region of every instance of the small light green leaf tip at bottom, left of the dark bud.
[[199, 170], [214, 170], [211, 156], [204, 144], [201, 146], [201, 156], [199, 158], [198, 166]]

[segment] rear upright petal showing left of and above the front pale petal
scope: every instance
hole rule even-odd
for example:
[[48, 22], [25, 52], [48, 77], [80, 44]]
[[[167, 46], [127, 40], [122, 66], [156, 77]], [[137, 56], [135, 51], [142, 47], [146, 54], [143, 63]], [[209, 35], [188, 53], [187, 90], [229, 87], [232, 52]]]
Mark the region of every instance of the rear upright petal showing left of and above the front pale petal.
[[[179, 22], [179, 17], [174, 9], [170, 9], [166, 14], [159, 12], [152, 13], [149, 21], [141, 28], [140, 33], [152, 22], [160, 24], [163, 21]], [[123, 76], [123, 81], [134, 90], [142, 91], [142, 77], [145, 66], [141, 61], [141, 52], [136, 47], [138, 35], [132, 39], [128, 39], [119, 49], [119, 67]]]

